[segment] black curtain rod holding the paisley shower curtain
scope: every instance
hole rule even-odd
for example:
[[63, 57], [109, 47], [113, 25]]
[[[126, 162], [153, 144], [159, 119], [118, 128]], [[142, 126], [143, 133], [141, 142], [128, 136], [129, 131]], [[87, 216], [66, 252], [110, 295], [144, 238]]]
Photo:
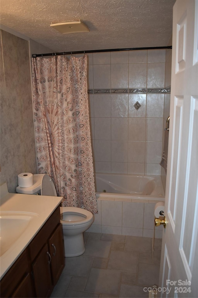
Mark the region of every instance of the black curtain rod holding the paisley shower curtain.
[[47, 53], [47, 54], [32, 54], [32, 57], [36, 58], [36, 57], [43, 57], [43, 56], [59, 56], [59, 55], [101, 53], [101, 52], [118, 52], [118, 51], [135, 51], [135, 50], [159, 50], [159, 49], [172, 49], [172, 46], [167, 46], [167, 47], [132, 47], [132, 48], [126, 48], [126, 49], [107, 49], [107, 50], [93, 50], [93, 51], [76, 51], [76, 52], [60, 52], [60, 53]]

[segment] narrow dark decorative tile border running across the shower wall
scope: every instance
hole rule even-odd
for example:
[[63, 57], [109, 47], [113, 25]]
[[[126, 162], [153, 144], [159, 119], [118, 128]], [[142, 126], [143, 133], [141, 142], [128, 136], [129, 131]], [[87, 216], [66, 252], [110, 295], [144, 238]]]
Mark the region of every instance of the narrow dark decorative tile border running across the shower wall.
[[88, 89], [88, 94], [105, 93], [126, 93], [126, 94], [146, 94], [146, 93], [170, 93], [170, 86], [166, 88], [120, 88], [120, 89]]

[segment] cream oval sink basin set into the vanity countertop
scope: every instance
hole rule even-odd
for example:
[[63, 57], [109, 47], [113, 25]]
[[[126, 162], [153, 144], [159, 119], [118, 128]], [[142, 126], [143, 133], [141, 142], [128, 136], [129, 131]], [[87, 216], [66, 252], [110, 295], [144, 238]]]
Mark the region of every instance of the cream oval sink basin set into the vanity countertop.
[[38, 214], [31, 212], [0, 213], [0, 255], [2, 256], [27, 229], [33, 218]]

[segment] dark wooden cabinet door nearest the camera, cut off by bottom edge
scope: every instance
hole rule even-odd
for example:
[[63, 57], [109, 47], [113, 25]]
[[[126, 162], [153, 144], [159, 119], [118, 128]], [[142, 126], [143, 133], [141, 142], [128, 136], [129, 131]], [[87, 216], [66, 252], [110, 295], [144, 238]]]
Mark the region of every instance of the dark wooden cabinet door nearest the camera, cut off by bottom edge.
[[32, 291], [31, 278], [30, 278], [29, 273], [28, 273], [28, 275], [26, 275], [26, 277], [20, 283], [19, 287], [16, 289], [16, 291], [14, 292], [12, 297], [13, 298], [16, 298], [16, 297], [19, 297], [19, 298], [34, 297], [33, 291]]

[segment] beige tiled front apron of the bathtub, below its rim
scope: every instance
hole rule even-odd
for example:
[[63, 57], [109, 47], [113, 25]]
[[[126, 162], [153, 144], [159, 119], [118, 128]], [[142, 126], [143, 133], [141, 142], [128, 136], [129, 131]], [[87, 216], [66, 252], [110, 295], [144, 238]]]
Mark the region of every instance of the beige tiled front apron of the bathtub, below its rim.
[[[131, 199], [97, 194], [98, 214], [88, 232], [150, 237], [154, 235], [154, 207], [164, 198]], [[155, 238], [162, 237], [162, 226], [155, 227]]]

